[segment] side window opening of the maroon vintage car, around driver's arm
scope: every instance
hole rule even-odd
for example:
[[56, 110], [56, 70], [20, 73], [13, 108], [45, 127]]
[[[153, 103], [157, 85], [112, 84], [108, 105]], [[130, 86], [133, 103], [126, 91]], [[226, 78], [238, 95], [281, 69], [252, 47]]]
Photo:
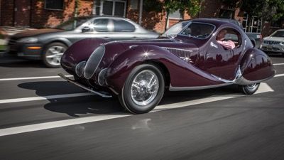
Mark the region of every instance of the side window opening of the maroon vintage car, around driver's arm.
[[241, 46], [241, 34], [233, 28], [224, 28], [217, 34], [217, 41], [233, 41], [238, 48]]

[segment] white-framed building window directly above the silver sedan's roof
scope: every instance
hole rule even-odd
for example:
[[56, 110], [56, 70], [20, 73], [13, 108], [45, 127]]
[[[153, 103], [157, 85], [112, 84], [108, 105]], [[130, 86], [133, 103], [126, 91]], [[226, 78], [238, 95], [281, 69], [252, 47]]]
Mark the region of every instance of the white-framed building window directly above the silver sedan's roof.
[[93, 13], [95, 15], [125, 16], [126, 0], [97, 0]]

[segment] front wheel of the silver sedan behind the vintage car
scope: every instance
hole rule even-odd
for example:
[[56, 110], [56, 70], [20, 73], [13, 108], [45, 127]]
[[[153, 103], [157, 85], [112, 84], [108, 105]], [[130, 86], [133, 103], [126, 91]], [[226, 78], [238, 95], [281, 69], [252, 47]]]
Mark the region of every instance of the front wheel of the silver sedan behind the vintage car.
[[48, 68], [60, 68], [60, 60], [67, 46], [63, 43], [50, 43], [43, 51], [43, 63]]

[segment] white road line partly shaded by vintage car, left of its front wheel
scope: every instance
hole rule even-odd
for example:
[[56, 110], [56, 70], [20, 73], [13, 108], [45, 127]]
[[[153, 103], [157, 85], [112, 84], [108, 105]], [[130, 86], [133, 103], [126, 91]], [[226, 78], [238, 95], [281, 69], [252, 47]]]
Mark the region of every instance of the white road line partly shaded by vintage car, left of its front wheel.
[[48, 95], [44, 97], [38, 96], [38, 97], [13, 98], [13, 99], [7, 99], [7, 100], [0, 100], [0, 104], [13, 103], [13, 102], [29, 102], [29, 101], [35, 101], [35, 100], [53, 100], [53, 99], [59, 99], [59, 98], [82, 97], [82, 96], [88, 96], [88, 95], [94, 95], [94, 93], [82, 92], [82, 93], [73, 93], [73, 94], [66, 94], [66, 95]]

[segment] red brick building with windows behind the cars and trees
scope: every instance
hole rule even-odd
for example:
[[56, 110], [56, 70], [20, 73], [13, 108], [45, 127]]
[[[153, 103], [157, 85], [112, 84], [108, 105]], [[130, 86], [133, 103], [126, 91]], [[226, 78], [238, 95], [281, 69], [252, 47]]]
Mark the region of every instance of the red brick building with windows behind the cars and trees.
[[[167, 22], [165, 12], [143, 11], [140, 13], [140, 2], [141, 0], [79, 0], [78, 16], [92, 14], [124, 16], [136, 22], [141, 21], [144, 28], [160, 33], [165, 30], [165, 26], [171, 26], [181, 19], [191, 18], [187, 14], [180, 15], [177, 11], [170, 14]], [[76, 8], [75, 0], [0, 0], [0, 4], [0, 26], [31, 26], [32, 28], [58, 25], [75, 16]], [[248, 19], [244, 12], [239, 9], [230, 9], [219, 0], [204, 0], [201, 6], [202, 11], [197, 18], [235, 18], [243, 23], [248, 32], [262, 32], [267, 35], [281, 27], [281, 25], [271, 27], [270, 23], [265, 23], [265, 30], [261, 31], [261, 19]]]

